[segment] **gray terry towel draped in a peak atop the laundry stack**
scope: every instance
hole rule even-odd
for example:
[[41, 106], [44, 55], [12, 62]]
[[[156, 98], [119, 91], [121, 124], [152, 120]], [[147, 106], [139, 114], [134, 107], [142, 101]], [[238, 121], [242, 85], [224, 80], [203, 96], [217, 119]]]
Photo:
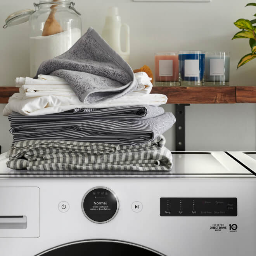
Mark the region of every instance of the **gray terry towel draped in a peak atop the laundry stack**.
[[119, 98], [137, 87], [131, 67], [93, 28], [67, 52], [44, 61], [39, 74], [63, 78], [88, 104]]

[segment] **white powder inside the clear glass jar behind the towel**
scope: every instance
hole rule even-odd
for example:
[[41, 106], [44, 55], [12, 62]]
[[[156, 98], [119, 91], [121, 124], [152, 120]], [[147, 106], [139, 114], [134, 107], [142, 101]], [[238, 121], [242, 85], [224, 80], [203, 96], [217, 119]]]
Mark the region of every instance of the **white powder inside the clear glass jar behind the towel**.
[[80, 37], [81, 30], [79, 28], [50, 36], [30, 37], [30, 76], [36, 75], [37, 69], [43, 61], [63, 54]]

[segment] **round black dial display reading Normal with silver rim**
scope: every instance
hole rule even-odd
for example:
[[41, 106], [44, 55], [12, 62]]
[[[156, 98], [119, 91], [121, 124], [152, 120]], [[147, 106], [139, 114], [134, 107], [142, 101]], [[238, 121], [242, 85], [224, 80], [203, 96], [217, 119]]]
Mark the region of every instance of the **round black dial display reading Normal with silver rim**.
[[112, 220], [119, 208], [118, 198], [106, 187], [90, 189], [83, 197], [82, 211], [88, 220], [95, 223], [106, 223]]

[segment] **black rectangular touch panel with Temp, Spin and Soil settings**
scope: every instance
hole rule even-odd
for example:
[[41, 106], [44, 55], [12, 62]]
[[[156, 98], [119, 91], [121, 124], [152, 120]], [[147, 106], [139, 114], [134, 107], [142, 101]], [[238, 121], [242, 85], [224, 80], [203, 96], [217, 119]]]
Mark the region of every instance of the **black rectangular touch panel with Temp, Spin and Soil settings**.
[[237, 198], [161, 197], [160, 216], [237, 216]]

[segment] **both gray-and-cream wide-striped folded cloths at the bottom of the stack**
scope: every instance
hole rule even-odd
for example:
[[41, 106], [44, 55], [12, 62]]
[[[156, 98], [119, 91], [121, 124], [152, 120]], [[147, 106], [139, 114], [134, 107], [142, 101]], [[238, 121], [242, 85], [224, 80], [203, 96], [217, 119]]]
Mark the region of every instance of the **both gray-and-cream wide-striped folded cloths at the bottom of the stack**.
[[[37, 142], [37, 143], [33, 143]], [[81, 143], [58, 142], [56, 145], [67, 145], [67, 150], [75, 147], [78, 152], [44, 152], [39, 141], [16, 142], [9, 151], [7, 167], [17, 170], [83, 170], [83, 171], [169, 171], [172, 167], [170, 150], [164, 147], [163, 135], [153, 141], [140, 146], [126, 146]], [[52, 147], [53, 142], [43, 142], [43, 149]], [[86, 144], [86, 145], [81, 145]], [[90, 148], [90, 144], [92, 148]], [[93, 145], [92, 145], [93, 144]], [[39, 147], [38, 147], [39, 146]], [[97, 153], [99, 146], [99, 153]], [[82, 149], [82, 147], [84, 147]], [[90, 148], [90, 154], [85, 150]], [[56, 146], [56, 150], [63, 147]], [[111, 150], [115, 150], [111, 152]], [[105, 151], [104, 151], [105, 150]], [[93, 151], [94, 153], [91, 154]], [[21, 158], [22, 157], [22, 158]]]

